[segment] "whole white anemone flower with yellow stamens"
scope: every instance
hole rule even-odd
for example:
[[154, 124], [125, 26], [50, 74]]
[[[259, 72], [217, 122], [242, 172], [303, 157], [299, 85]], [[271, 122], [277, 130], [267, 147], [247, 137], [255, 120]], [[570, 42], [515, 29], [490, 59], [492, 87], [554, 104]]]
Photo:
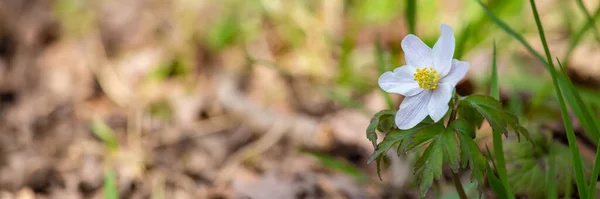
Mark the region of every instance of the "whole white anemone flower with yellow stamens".
[[435, 122], [448, 111], [454, 87], [465, 76], [469, 63], [452, 59], [454, 32], [446, 24], [432, 48], [417, 36], [409, 34], [402, 40], [406, 65], [385, 72], [379, 86], [389, 93], [404, 95], [396, 113], [396, 126], [410, 129], [427, 115]]

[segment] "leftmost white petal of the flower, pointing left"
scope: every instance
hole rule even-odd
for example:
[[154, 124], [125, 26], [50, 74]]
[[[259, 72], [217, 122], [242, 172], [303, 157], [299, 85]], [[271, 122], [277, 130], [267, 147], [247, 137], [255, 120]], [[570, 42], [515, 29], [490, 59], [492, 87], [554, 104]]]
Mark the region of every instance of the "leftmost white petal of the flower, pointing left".
[[423, 89], [415, 81], [415, 71], [415, 67], [406, 65], [394, 69], [394, 72], [385, 72], [379, 77], [379, 87], [389, 93], [416, 95]]

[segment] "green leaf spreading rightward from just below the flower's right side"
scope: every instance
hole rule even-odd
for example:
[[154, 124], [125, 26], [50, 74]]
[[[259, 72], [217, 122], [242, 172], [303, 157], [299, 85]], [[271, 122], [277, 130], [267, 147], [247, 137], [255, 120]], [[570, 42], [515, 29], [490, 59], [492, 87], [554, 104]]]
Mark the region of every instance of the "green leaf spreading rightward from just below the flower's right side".
[[519, 124], [519, 120], [513, 114], [502, 110], [500, 102], [490, 96], [471, 95], [460, 101], [459, 106], [469, 106], [483, 116], [490, 126], [498, 132], [508, 136], [508, 130], [513, 130], [517, 137], [521, 135], [529, 137], [527, 129]]

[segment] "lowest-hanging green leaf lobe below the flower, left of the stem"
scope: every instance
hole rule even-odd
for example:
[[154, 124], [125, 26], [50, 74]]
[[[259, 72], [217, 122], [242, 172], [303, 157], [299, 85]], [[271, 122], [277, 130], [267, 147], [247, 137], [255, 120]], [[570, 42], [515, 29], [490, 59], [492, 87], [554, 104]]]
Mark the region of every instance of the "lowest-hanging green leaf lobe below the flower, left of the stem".
[[414, 171], [418, 176], [421, 197], [425, 197], [433, 180], [439, 180], [442, 175], [442, 142], [435, 140], [425, 149], [423, 155], [415, 163]]

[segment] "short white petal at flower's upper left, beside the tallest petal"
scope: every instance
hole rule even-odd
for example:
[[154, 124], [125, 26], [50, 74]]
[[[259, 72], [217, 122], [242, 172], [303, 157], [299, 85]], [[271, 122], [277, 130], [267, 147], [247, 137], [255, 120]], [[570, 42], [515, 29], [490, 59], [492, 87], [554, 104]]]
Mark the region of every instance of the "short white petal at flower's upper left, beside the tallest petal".
[[413, 34], [407, 35], [402, 40], [401, 46], [407, 65], [416, 68], [431, 67], [433, 65], [431, 48], [417, 36]]

